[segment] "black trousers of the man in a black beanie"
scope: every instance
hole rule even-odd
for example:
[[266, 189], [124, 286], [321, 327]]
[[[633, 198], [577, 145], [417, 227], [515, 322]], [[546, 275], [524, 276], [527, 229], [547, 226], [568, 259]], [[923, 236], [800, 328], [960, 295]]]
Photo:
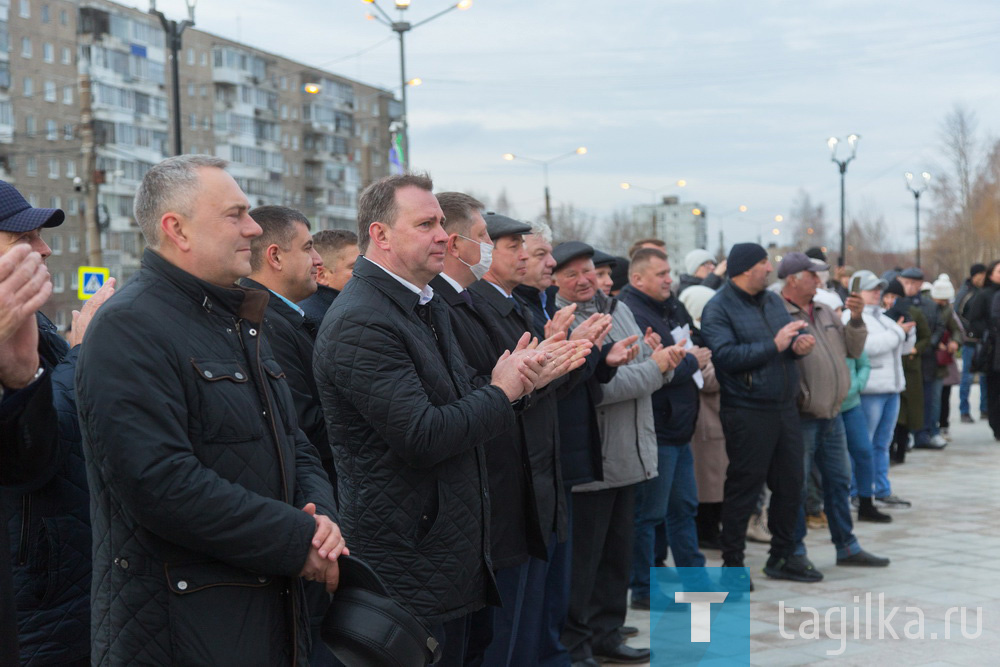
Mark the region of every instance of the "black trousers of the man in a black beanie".
[[719, 536], [723, 561], [743, 561], [747, 522], [765, 482], [771, 489], [767, 517], [771, 554], [790, 556], [802, 503], [804, 464], [798, 411], [794, 406], [773, 412], [723, 406], [720, 417], [729, 455]]

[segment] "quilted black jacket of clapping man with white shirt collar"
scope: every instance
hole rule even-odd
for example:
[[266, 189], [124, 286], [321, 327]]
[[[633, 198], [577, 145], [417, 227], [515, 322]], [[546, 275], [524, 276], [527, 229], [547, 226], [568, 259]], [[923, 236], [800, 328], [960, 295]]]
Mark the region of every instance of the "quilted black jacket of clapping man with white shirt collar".
[[315, 374], [351, 553], [429, 624], [496, 604], [483, 443], [514, 411], [500, 389], [473, 388], [440, 297], [419, 306], [359, 259], [320, 327]]

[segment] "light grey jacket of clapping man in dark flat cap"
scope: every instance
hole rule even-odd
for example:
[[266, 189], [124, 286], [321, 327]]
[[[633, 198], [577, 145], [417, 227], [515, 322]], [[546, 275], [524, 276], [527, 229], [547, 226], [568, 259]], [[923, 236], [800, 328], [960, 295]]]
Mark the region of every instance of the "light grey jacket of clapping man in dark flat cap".
[[[556, 296], [556, 307], [570, 301]], [[576, 304], [574, 326], [598, 312], [607, 312], [610, 300], [600, 292], [590, 301]], [[672, 372], [660, 373], [650, 359], [652, 350], [642, 342], [642, 332], [628, 306], [617, 302], [612, 316], [611, 333], [605, 342], [638, 334], [639, 356], [601, 385], [603, 399], [597, 406], [597, 424], [601, 430], [601, 458], [604, 479], [573, 487], [578, 491], [600, 491], [644, 482], [656, 477], [656, 430], [653, 425], [653, 392], [669, 382]]]

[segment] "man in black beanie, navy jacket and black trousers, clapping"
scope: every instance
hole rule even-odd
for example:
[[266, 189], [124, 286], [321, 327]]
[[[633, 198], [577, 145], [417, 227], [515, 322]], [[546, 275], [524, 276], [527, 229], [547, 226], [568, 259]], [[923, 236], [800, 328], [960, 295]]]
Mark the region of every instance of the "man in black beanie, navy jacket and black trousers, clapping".
[[795, 360], [812, 351], [816, 339], [801, 333], [774, 292], [765, 289], [773, 270], [767, 251], [737, 243], [727, 259], [729, 282], [705, 306], [701, 333], [712, 350], [722, 388], [720, 417], [729, 468], [722, 504], [724, 584], [752, 591], [743, 568], [747, 521], [764, 482], [771, 489], [769, 567], [802, 576], [811, 568], [797, 559], [795, 523], [802, 502], [802, 432], [796, 399]]

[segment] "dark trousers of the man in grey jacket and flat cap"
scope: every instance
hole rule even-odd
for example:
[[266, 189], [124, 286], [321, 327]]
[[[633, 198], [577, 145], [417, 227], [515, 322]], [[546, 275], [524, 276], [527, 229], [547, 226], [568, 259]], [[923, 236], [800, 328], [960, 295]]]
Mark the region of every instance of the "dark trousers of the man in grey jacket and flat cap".
[[573, 505], [572, 588], [562, 642], [579, 661], [622, 641], [618, 628], [628, 611], [634, 487], [576, 493]]

